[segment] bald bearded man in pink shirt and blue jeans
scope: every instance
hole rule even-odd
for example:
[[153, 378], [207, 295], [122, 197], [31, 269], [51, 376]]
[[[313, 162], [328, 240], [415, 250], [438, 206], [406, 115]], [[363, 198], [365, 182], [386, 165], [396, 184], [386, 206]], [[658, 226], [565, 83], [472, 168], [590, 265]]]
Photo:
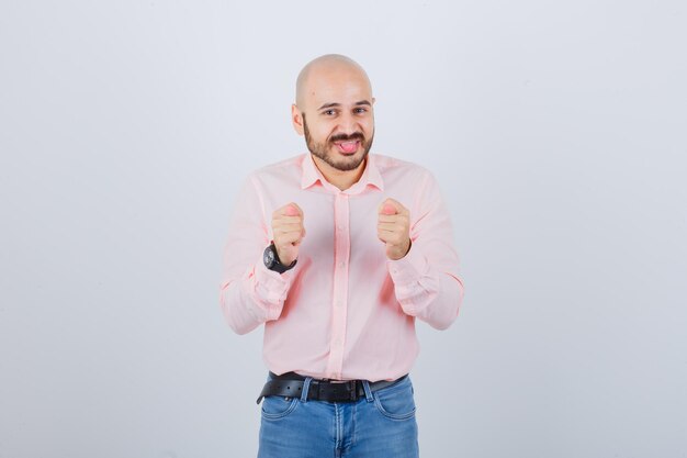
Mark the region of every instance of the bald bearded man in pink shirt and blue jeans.
[[353, 60], [307, 64], [309, 154], [254, 172], [235, 209], [221, 302], [236, 333], [264, 324], [262, 458], [418, 456], [415, 320], [447, 328], [463, 287], [432, 176], [369, 154], [373, 105]]

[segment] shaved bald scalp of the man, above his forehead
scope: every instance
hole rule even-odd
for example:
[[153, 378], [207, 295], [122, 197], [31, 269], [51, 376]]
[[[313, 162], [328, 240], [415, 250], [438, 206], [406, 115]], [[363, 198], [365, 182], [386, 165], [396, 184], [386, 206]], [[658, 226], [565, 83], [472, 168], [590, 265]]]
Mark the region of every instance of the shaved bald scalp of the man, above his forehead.
[[367, 86], [372, 94], [372, 86], [365, 70], [353, 59], [340, 54], [325, 54], [303, 67], [296, 79], [296, 105], [305, 111], [309, 99], [328, 80], [350, 78]]

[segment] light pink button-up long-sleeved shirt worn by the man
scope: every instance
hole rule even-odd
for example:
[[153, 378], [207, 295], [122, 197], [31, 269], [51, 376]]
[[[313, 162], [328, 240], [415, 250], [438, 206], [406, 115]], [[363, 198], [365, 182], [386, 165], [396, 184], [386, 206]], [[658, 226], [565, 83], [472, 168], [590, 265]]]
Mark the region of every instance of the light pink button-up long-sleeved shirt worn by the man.
[[[376, 236], [386, 198], [410, 212], [412, 247], [386, 258]], [[272, 212], [303, 209], [306, 235], [296, 266], [268, 270]], [[309, 154], [257, 170], [239, 194], [224, 254], [221, 305], [245, 334], [264, 323], [263, 358], [278, 375], [337, 380], [393, 380], [419, 351], [415, 320], [438, 329], [458, 315], [463, 286], [447, 209], [426, 169], [368, 156], [360, 180], [341, 191]]]

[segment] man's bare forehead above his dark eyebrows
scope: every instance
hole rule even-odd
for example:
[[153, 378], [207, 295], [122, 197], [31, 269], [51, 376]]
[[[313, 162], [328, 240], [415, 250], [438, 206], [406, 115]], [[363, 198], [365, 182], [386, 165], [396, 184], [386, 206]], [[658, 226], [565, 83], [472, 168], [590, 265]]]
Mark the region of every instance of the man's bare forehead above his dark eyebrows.
[[354, 104], [371, 101], [372, 89], [364, 72], [354, 67], [318, 68], [308, 75], [305, 99], [309, 109], [325, 103]]

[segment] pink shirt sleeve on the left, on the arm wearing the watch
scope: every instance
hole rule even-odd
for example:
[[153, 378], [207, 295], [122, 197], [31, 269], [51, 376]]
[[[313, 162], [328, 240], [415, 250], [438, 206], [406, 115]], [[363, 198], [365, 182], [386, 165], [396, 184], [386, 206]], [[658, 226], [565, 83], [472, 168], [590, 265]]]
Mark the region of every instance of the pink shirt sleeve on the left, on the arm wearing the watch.
[[269, 217], [251, 176], [243, 186], [229, 223], [219, 288], [222, 311], [237, 334], [279, 319], [293, 278], [292, 270], [279, 273], [264, 267]]

